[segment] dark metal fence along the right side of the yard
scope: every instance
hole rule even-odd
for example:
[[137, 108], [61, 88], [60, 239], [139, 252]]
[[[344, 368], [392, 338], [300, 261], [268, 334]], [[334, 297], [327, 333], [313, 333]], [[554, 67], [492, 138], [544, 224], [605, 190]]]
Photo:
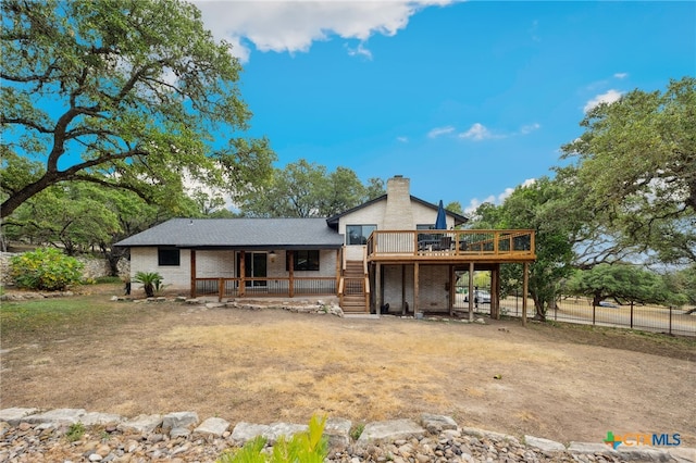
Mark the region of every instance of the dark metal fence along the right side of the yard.
[[[469, 305], [458, 303], [456, 308], [467, 309]], [[606, 303], [593, 306], [587, 298], [563, 298], [555, 309], [549, 309], [546, 320], [582, 325], [608, 326], [616, 328], [639, 329], [644, 331], [664, 333], [675, 336], [696, 336], [696, 312], [687, 314], [692, 308], [673, 308], [662, 305], [620, 305]], [[489, 303], [478, 303], [474, 309], [480, 314], [490, 314]], [[522, 298], [511, 296], [500, 301], [500, 314], [504, 316], [522, 316]], [[534, 301], [527, 300], [527, 317], [535, 315]]]

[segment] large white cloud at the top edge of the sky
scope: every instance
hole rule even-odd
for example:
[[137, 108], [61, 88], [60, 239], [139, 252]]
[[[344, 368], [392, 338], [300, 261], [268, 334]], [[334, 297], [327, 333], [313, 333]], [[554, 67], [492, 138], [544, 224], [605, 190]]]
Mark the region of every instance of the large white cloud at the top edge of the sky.
[[[234, 46], [232, 53], [245, 62], [250, 53], [247, 43], [253, 43], [260, 51], [306, 52], [312, 42], [335, 35], [358, 39], [362, 45], [374, 34], [396, 35], [413, 14], [426, 7], [453, 1], [195, 0], [195, 3], [215, 38], [229, 41]], [[366, 52], [361, 46], [353, 50], [357, 55]]]

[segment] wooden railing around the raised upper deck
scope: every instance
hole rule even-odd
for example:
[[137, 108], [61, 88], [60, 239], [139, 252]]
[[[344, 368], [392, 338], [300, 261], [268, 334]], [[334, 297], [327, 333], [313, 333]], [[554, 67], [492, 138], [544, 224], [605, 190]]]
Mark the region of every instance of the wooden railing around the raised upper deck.
[[534, 259], [534, 230], [375, 230], [368, 258]]

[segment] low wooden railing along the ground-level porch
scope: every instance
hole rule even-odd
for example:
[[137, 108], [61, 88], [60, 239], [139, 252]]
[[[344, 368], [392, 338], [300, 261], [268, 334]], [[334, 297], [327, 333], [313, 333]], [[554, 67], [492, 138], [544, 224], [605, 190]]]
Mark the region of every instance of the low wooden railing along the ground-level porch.
[[192, 297], [224, 298], [336, 296], [335, 277], [196, 278]]

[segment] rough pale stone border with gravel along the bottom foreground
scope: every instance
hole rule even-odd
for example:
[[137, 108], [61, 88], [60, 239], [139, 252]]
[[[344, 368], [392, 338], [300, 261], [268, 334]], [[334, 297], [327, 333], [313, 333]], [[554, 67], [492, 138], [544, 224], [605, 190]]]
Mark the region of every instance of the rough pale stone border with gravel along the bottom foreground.
[[[71, 438], [71, 426], [82, 423]], [[474, 462], [693, 462], [696, 449], [648, 446], [613, 449], [604, 442], [561, 442], [534, 436], [518, 439], [458, 425], [449, 416], [423, 413], [420, 420], [366, 423], [358, 433], [352, 422], [331, 417], [324, 427], [326, 463], [474, 463]], [[94, 427], [94, 429], [88, 429]], [[220, 417], [200, 421], [195, 412], [125, 418], [84, 409], [0, 410], [0, 460], [89, 462], [215, 462], [261, 436], [273, 445], [279, 436], [307, 430], [306, 425], [237, 423]], [[80, 429], [80, 428], [74, 428]], [[357, 438], [356, 438], [357, 437]]]

